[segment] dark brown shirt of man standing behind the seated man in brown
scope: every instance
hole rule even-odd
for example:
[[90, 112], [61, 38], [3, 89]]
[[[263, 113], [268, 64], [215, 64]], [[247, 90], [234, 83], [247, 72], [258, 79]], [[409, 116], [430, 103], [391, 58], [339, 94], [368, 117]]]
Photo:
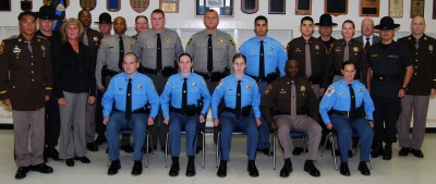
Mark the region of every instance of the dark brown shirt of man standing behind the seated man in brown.
[[[287, 47], [288, 60], [299, 61], [299, 75], [306, 76], [305, 74], [305, 44], [306, 40], [303, 37], [292, 39]], [[311, 48], [311, 62], [312, 62], [312, 75], [308, 77], [313, 84], [320, 84], [319, 86], [326, 88], [328, 86], [327, 77], [325, 82], [323, 79], [323, 69], [326, 66], [327, 49], [323, 41], [312, 37], [308, 39]], [[325, 83], [325, 84], [323, 84]]]

